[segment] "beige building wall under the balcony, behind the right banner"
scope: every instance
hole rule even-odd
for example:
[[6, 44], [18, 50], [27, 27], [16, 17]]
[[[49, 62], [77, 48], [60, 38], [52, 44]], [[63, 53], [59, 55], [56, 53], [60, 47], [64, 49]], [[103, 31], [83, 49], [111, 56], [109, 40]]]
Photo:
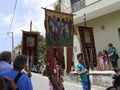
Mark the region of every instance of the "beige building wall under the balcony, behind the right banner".
[[[108, 44], [112, 43], [113, 46], [116, 47], [117, 53], [120, 56], [120, 34], [118, 31], [120, 28], [119, 16], [120, 10], [86, 22], [88, 27], [93, 27], [96, 53], [99, 51], [108, 50]], [[79, 25], [83, 26], [84, 24], [81, 23]], [[78, 40], [78, 38], [74, 38], [75, 41]], [[79, 44], [77, 45], [79, 46]], [[120, 66], [120, 60], [118, 61]]]

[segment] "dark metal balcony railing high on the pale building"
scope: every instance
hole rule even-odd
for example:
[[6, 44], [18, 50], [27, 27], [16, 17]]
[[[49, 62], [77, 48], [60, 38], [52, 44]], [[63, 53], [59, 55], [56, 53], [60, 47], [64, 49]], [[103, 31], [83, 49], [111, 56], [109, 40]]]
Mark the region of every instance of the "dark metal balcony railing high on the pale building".
[[78, 11], [86, 6], [85, 0], [80, 0], [72, 5], [72, 12]]

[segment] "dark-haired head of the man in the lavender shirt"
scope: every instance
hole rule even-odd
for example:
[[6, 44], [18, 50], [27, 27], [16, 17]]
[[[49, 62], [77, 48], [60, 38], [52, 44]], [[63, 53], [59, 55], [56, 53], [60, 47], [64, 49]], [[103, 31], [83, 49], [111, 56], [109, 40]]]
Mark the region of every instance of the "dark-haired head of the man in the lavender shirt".
[[11, 63], [11, 52], [10, 51], [3, 51], [0, 54], [0, 61], [5, 61]]

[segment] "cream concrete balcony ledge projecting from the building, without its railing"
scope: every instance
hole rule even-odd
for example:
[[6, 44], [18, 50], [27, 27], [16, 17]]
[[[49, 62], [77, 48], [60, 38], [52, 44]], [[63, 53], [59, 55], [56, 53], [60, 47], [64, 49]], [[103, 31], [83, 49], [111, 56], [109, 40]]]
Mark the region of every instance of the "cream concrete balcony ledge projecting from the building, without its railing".
[[[77, 2], [78, 3], [78, 2]], [[79, 24], [84, 22], [84, 13], [86, 14], [86, 19], [91, 20], [97, 18], [99, 16], [103, 16], [109, 14], [111, 12], [115, 12], [120, 10], [120, 1], [119, 0], [97, 0], [93, 3], [87, 4], [83, 8], [75, 11], [73, 14], [74, 16], [74, 24]], [[76, 3], [74, 3], [76, 4]], [[77, 6], [76, 6], [77, 7]]]

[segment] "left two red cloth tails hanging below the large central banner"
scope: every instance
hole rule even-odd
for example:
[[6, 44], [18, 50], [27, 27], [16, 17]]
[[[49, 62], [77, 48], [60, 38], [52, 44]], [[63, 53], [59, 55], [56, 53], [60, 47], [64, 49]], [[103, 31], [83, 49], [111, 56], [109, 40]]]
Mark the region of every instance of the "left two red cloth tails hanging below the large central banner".
[[53, 69], [54, 69], [54, 57], [57, 57], [58, 65], [62, 64], [62, 56], [63, 56], [63, 47], [52, 47], [47, 46], [46, 47], [46, 60], [47, 60], [47, 75], [53, 75]]

